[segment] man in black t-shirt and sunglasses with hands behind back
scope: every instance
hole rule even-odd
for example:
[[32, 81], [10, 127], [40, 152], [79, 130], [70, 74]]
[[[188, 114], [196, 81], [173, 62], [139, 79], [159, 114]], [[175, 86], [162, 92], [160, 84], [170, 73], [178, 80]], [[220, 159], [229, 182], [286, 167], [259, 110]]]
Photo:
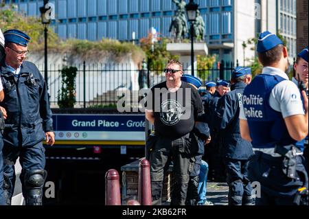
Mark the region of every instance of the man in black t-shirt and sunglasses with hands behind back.
[[152, 205], [161, 205], [164, 170], [174, 163], [171, 205], [185, 205], [190, 158], [198, 151], [193, 133], [196, 117], [203, 113], [198, 92], [181, 82], [183, 67], [170, 60], [164, 69], [166, 81], [152, 87], [147, 96], [146, 119], [155, 125], [155, 143], [150, 154]]

